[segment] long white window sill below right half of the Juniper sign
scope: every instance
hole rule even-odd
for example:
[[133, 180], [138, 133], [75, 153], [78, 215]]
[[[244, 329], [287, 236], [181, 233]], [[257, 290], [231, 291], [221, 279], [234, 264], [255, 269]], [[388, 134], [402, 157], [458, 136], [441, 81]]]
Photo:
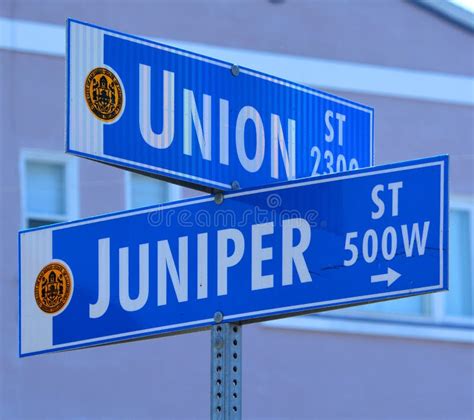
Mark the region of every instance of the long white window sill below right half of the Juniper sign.
[[266, 321], [263, 325], [269, 328], [474, 343], [474, 326], [446, 325], [434, 322], [394, 322], [381, 318], [319, 314], [276, 319]]

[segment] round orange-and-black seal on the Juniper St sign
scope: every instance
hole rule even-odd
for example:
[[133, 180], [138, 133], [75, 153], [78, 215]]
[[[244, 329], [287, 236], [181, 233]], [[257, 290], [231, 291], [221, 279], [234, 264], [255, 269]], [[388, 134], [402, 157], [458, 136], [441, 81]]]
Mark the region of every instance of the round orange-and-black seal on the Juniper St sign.
[[72, 291], [72, 278], [68, 269], [60, 262], [52, 262], [36, 277], [35, 299], [39, 308], [55, 314], [68, 303]]

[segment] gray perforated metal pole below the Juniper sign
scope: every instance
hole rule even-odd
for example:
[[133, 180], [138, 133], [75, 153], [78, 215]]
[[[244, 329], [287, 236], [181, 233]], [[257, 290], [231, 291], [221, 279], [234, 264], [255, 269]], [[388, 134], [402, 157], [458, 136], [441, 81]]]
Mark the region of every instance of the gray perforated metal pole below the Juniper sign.
[[[216, 321], [218, 318], [216, 316]], [[241, 392], [242, 326], [214, 325], [211, 330], [211, 419], [240, 420]]]

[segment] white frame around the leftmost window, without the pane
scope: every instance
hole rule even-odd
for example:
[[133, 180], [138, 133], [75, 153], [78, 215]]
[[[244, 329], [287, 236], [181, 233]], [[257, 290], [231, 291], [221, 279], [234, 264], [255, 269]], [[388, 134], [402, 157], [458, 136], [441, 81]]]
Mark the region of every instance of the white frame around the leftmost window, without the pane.
[[[46, 164], [61, 164], [65, 168], [66, 176], [66, 201], [64, 214], [35, 214], [27, 209], [27, 176], [26, 165], [28, 162], [39, 162]], [[29, 219], [45, 219], [65, 222], [79, 218], [79, 163], [78, 159], [68, 156], [64, 152], [54, 150], [22, 149], [20, 151], [20, 189], [21, 189], [21, 226], [28, 228]]]

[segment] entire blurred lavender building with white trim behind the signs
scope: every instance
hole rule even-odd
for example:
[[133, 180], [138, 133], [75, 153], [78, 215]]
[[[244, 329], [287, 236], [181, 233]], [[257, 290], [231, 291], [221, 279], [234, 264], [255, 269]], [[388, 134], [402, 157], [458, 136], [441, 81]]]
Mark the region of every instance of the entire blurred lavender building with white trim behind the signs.
[[20, 228], [190, 194], [64, 154], [66, 17], [373, 106], [376, 164], [448, 153], [451, 290], [246, 326], [243, 418], [474, 418], [474, 17], [444, 0], [0, 0], [0, 418], [209, 416], [209, 332], [18, 358]]

